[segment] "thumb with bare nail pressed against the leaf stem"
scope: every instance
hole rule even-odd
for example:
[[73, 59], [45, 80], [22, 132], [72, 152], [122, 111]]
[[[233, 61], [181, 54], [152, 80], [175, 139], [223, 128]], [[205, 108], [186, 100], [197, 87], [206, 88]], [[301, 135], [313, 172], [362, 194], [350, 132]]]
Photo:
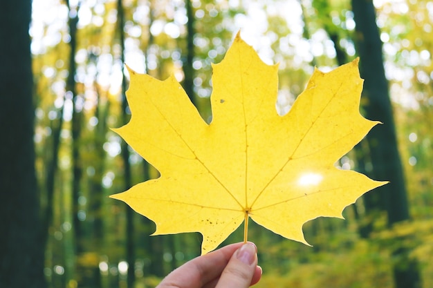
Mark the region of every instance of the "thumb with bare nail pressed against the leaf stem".
[[257, 267], [257, 247], [243, 244], [233, 253], [215, 288], [247, 288]]

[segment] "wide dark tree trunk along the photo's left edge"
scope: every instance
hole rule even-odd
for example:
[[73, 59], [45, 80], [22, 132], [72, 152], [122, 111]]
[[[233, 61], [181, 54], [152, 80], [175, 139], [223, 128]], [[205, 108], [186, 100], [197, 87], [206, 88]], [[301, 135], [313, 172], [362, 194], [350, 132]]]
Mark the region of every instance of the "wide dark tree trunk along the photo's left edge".
[[0, 10], [0, 287], [42, 288], [44, 243], [33, 144], [31, 1]]

